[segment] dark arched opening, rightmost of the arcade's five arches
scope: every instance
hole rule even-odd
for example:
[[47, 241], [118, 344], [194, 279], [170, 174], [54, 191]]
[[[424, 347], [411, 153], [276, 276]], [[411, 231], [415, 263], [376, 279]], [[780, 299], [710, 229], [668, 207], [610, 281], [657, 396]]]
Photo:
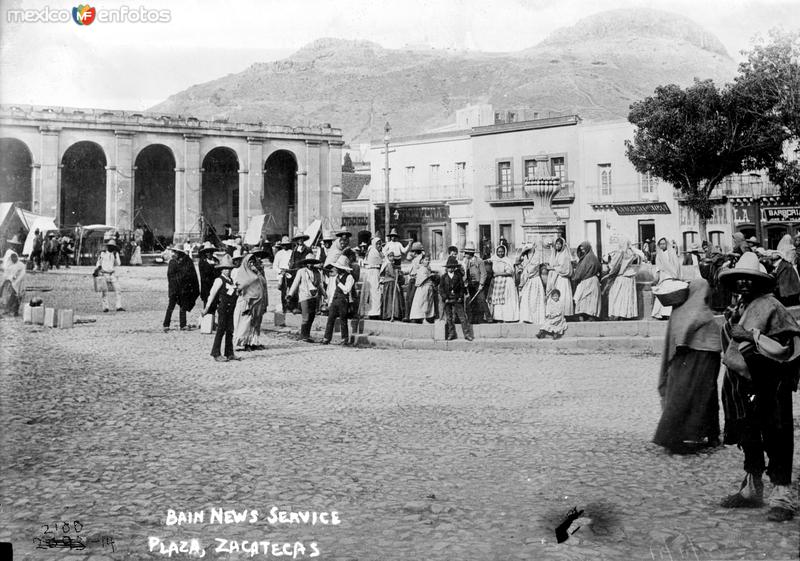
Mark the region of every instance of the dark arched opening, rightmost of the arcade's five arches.
[[297, 160], [287, 150], [278, 150], [264, 164], [265, 232], [270, 238], [292, 235], [297, 223]]

